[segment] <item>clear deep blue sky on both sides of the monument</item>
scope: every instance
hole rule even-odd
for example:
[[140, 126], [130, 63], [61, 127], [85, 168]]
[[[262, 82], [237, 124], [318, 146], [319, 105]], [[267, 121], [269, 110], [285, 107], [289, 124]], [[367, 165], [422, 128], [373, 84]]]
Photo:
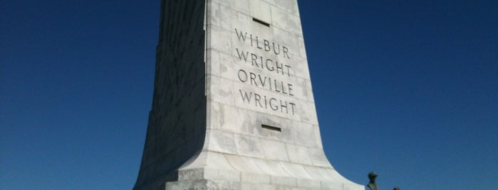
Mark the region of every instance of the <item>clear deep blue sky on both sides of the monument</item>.
[[[383, 190], [498, 188], [498, 1], [299, 1], [324, 149]], [[0, 189], [131, 189], [159, 0], [1, 1]]]

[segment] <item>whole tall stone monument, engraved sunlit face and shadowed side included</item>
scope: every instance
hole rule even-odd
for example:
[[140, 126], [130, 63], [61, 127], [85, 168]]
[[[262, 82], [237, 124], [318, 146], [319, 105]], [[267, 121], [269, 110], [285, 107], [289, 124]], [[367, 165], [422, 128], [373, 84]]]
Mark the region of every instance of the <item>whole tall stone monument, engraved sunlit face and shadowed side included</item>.
[[365, 189], [323, 152], [296, 0], [162, 0], [133, 189]]

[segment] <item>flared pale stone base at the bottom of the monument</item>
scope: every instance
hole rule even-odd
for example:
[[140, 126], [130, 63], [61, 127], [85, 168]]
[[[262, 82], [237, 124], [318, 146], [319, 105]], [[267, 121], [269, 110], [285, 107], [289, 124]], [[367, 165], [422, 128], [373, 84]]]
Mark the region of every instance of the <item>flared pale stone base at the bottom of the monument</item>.
[[[207, 164], [209, 163], [209, 164]], [[365, 190], [332, 167], [202, 152], [177, 171], [161, 190]]]

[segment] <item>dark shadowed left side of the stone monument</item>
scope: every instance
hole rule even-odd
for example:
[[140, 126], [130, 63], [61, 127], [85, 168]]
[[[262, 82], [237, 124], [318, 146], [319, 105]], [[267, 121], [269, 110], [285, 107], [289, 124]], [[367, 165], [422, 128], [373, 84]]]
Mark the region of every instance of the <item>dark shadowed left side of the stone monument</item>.
[[204, 1], [161, 2], [154, 93], [133, 189], [164, 189], [206, 134]]

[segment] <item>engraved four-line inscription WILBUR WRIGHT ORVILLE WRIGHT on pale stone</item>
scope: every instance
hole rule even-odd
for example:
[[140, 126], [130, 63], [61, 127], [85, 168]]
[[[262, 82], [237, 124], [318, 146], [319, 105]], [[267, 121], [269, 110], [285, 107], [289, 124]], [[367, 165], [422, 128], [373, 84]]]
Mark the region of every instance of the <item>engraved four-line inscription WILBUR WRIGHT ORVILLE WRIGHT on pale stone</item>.
[[[255, 67], [259, 72], [251, 72], [245, 69], [239, 69], [237, 72], [237, 79], [243, 84], [256, 86], [272, 93], [281, 94], [284, 96], [294, 96], [294, 84], [289, 80], [293, 77], [293, 70], [291, 65], [281, 60], [274, 60], [271, 57], [283, 57], [284, 61], [290, 61], [291, 56], [289, 47], [280, 45], [279, 43], [272, 42], [260, 38], [257, 35], [243, 32], [234, 28], [237, 40], [241, 44], [240, 47], [235, 47], [235, 52], [239, 58], [239, 62], [250, 67]], [[244, 46], [256, 47], [256, 50], [261, 52], [271, 53], [274, 56], [264, 57], [258, 52], [249, 52], [243, 49]], [[259, 53], [261, 53], [259, 52]], [[270, 77], [274, 76], [274, 77]], [[276, 76], [276, 77], [275, 77]], [[271, 111], [279, 111], [280, 113], [296, 114], [296, 103], [278, 99], [269, 94], [261, 94], [255, 91], [246, 91], [239, 89], [240, 99], [244, 104], [252, 105], [259, 108], [265, 108]]]

